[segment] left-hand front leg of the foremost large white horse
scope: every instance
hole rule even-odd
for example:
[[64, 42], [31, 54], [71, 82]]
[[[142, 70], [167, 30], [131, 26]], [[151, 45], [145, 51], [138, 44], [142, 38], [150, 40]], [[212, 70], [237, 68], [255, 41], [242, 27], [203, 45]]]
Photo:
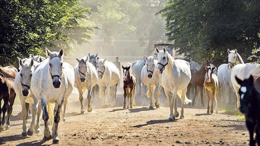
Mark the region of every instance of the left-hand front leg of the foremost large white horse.
[[41, 98], [41, 105], [43, 110], [43, 120], [44, 120], [44, 140], [50, 140], [51, 139], [51, 132], [48, 126], [48, 120], [49, 120], [49, 113], [47, 110], [47, 103], [46, 99]]

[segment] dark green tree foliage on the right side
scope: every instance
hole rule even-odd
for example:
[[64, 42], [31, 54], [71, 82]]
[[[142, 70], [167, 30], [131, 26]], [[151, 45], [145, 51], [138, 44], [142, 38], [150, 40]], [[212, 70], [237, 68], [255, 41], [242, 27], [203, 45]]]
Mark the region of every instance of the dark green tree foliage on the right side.
[[259, 6], [257, 0], [169, 0], [160, 14], [180, 53], [220, 65], [227, 62], [227, 49], [238, 49], [245, 60], [259, 47]]

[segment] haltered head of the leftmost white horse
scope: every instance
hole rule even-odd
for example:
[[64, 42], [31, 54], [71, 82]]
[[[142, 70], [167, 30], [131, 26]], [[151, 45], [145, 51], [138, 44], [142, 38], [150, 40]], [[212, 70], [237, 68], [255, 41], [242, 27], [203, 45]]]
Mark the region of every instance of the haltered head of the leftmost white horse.
[[20, 81], [21, 81], [21, 86], [22, 86], [22, 95], [23, 96], [28, 96], [30, 86], [31, 86], [31, 79], [32, 79], [32, 74], [34, 72], [34, 60], [32, 58], [29, 58], [25, 60], [23, 63], [22, 59], [19, 59], [19, 68], [20, 68]]

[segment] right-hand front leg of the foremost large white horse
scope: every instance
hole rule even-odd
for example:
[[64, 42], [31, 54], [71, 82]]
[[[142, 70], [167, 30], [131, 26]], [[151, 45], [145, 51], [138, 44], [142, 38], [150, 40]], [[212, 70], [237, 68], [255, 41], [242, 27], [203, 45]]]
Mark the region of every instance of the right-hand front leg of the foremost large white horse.
[[[89, 92], [89, 91], [88, 91]], [[90, 91], [91, 92], [91, 91]], [[53, 135], [53, 144], [58, 144], [59, 143], [59, 138], [58, 138], [58, 123], [60, 121], [60, 112], [61, 112], [61, 107], [63, 104], [63, 100], [64, 97], [59, 99], [56, 102], [56, 106], [55, 106], [55, 112], [54, 112], [54, 125], [53, 125], [53, 131], [52, 131], [52, 135]]]

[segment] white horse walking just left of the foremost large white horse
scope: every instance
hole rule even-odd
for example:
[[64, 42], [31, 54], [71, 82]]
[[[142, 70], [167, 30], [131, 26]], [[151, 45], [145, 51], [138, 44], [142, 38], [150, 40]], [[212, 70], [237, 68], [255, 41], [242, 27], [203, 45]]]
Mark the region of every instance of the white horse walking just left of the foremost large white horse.
[[20, 71], [17, 73], [17, 76], [15, 77], [14, 80], [14, 90], [15, 93], [19, 96], [20, 103], [22, 106], [22, 119], [23, 119], [22, 136], [26, 136], [27, 134], [32, 135], [34, 133], [34, 130], [36, 130], [35, 131], [36, 134], [40, 132], [40, 124], [39, 124], [40, 111], [38, 111], [37, 124], [36, 127], [34, 127], [35, 116], [37, 112], [36, 111], [32, 113], [31, 127], [28, 129], [28, 132], [26, 133], [26, 117], [27, 117], [28, 109], [26, 109], [26, 105], [25, 105], [25, 104], [30, 104], [30, 110], [32, 111], [32, 106], [35, 103], [34, 101], [37, 101], [37, 99], [35, 99], [35, 97], [32, 95], [32, 92], [30, 91], [30, 86], [31, 86], [31, 78], [34, 73], [35, 66], [37, 66], [38, 64], [39, 63], [34, 61], [32, 58], [25, 59], [25, 60], [19, 58]]

